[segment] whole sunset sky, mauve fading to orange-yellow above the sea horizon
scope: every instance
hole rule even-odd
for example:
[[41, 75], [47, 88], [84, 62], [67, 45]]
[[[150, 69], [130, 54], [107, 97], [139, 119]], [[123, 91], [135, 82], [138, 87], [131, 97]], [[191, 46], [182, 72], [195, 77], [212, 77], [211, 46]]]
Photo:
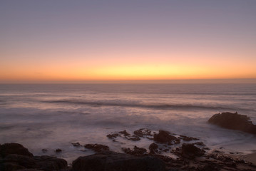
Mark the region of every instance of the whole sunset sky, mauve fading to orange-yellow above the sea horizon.
[[256, 78], [255, 0], [0, 0], [0, 83]]

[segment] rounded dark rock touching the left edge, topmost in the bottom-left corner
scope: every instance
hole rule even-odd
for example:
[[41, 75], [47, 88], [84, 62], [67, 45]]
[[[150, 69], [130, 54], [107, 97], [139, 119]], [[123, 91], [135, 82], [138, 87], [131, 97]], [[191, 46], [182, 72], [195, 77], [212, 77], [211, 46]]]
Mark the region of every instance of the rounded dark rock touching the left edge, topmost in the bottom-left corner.
[[1, 157], [5, 157], [6, 155], [26, 155], [29, 157], [33, 157], [32, 153], [29, 152], [27, 148], [18, 143], [6, 143], [0, 146], [0, 155]]

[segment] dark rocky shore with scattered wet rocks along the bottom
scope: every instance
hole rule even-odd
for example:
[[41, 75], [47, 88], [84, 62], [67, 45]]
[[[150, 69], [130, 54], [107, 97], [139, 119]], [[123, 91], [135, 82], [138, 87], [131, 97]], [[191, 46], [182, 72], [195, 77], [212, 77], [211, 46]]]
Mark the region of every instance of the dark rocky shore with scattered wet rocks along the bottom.
[[[222, 114], [220, 114], [222, 115]], [[230, 114], [227, 114], [230, 115]], [[238, 115], [238, 114], [235, 114]], [[215, 115], [214, 119], [221, 118]], [[226, 115], [224, 114], [224, 117]], [[238, 115], [240, 117], [240, 115]], [[244, 117], [243, 117], [244, 118]], [[210, 122], [210, 120], [209, 120]], [[215, 120], [215, 122], [217, 122]], [[248, 123], [250, 128], [252, 123]], [[244, 125], [242, 125], [245, 127]], [[246, 129], [247, 130], [247, 129]], [[210, 171], [210, 170], [256, 170], [255, 154], [241, 157], [210, 149], [200, 139], [177, 135], [165, 130], [152, 131], [145, 128], [128, 133], [126, 130], [106, 135], [113, 143], [118, 140], [152, 141], [148, 148], [123, 147], [123, 153], [113, 152], [107, 145], [73, 142], [74, 147], [83, 147], [95, 152], [81, 156], [68, 166], [66, 160], [53, 156], [34, 156], [26, 147], [17, 143], [0, 145], [1, 171]], [[46, 149], [42, 149], [46, 150]], [[61, 149], [56, 149], [61, 152]], [[248, 158], [248, 160], [247, 160]], [[251, 162], [250, 162], [251, 161]]]

